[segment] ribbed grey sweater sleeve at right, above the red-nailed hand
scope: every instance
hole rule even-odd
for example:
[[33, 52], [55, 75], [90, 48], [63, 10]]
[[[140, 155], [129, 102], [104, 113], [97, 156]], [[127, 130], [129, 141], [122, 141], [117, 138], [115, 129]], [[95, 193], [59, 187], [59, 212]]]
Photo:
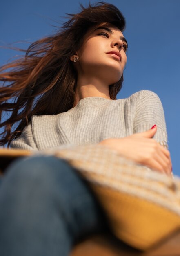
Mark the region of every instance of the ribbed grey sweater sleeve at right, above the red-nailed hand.
[[133, 133], [147, 131], [156, 124], [157, 132], [153, 139], [168, 149], [164, 110], [158, 95], [149, 90], [141, 90], [133, 94], [133, 98], [136, 99]]

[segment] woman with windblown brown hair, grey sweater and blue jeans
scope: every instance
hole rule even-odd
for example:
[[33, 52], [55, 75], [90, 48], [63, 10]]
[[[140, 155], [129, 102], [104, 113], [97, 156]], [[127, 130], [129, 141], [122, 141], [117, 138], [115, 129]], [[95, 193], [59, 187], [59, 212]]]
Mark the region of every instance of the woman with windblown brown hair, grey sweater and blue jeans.
[[[127, 62], [122, 13], [104, 2], [81, 7], [54, 36], [36, 41], [23, 58], [1, 68], [0, 80], [10, 85], [0, 88], [0, 109], [12, 115], [0, 125], [0, 144], [28, 150], [102, 144], [171, 175], [159, 97], [142, 90], [116, 99]], [[68, 255], [80, 238], [108, 230], [88, 185], [51, 156], [9, 166], [0, 209], [2, 256]]]

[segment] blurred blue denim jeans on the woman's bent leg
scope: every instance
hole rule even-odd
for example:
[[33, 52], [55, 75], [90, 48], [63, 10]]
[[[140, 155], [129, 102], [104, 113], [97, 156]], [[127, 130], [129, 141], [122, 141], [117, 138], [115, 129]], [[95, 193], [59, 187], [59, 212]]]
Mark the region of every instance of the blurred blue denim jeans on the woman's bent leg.
[[67, 256], [106, 223], [87, 182], [63, 159], [18, 159], [0, 180], [0, 256]]

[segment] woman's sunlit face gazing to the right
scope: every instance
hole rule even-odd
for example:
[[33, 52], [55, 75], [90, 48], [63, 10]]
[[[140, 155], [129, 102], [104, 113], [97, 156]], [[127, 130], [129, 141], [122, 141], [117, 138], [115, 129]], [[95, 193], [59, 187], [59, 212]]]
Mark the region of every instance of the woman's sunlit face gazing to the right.
[[[126, 39], [117, 27], [101, 23], [91, 28], [84, 37], [82, 47], [77, 51], [78, 76], [96, 76], [109, 85], [116, 83], [127, 63], [126, 49]], [[109, 54], [112, 51], [115, 54]]]

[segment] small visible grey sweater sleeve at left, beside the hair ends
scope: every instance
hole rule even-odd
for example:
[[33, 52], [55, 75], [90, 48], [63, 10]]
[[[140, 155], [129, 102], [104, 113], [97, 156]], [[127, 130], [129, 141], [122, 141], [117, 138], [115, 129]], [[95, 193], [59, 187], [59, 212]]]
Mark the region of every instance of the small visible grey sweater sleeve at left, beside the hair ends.
[[38, 150], [33, 138], [31, 122], [25, 126], [20, 137], [11, 142], [10, 147], [24, 150]]

